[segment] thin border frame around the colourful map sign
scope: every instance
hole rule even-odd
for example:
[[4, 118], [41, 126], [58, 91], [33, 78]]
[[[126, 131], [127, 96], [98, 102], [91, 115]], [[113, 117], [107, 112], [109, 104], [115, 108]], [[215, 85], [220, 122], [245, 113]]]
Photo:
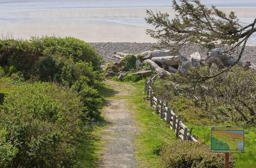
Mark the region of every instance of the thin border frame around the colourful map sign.
[[[223, 131], [243, 131], [243, 150], [223, 150], [223, 149], [212, 149], [212, 131], [214, 130], [223, 130]], [[211, 139], [210, 139], [210, 150], [213, 153], [244, 153], [244, 145], [245, 145], [245, 132], [244, 127], [221, 127], [221, 126], [212, 126], [211, 127]]]

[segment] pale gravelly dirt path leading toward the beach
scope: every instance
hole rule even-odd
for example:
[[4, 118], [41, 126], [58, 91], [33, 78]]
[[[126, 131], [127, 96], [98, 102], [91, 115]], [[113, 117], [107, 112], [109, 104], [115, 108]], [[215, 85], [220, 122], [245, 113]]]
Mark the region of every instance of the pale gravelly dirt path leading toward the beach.
[[[114, 95], [107, 99], [103, 109], [104, 118], [111, 124], [104, 130], [104, 151], [99, 167], [136, 167], [134, 157], [134, 135], [136, 123], [127, 103], [127, 96], [131, 96], [130, 85], [114, 81], [106, 81], [114, 90]], [[126, 97], [126, 98], [125, 98]]]

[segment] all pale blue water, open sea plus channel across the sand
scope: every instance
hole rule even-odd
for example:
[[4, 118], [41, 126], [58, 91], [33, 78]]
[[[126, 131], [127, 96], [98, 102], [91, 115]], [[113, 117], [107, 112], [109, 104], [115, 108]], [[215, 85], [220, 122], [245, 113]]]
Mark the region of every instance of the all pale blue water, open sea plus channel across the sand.
[[[212, 4], [220, 8], [254, 8], [256, 0], [201, 0], [207, 6]], [[20, 12], [40, 10], [86, 9], [86, 8], [170, 8], [172, 0], [0, 0], [0, 24], [20, 20], [33, 19], [79, 19], [94, 20], [131, 26], [151, 27], [145, 23], [144, 17], [47, 17], [23, 15]], [[256, 12], [255, 12], [256, 17]], [[240, 18], [241, 24], [251, 23], [254, 18]], [[256, 44], [256, 36], [250, 42]]]

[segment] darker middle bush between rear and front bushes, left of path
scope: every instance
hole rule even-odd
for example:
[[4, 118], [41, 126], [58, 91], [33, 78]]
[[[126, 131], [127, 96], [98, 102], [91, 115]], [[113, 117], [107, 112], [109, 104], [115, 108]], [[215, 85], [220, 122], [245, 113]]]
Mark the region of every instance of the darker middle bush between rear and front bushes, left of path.
[[89, 63], [74, 62], [59, 55], [40, 58], [32, 69], [34, 70], [31, 75], [36, 80], [56, 81], [69, 87], [74, 85], [81, 76], [86, 76], [87, 80], [84, 82], [94, 88], [100, 86], [98, 81], [102, 79], [101, 74], [94, 71]]

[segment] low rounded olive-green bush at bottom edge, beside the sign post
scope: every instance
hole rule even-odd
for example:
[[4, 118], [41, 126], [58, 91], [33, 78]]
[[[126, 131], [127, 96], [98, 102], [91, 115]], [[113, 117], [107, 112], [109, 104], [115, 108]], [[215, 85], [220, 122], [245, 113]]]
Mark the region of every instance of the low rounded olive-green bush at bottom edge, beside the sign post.
[[[211, 167], [219, 168], [224, 166], [224, 155], [211, 153], [209, 147], [194, 142], [176, 142], [166, 146], [161, 152], [161, 167]], [[230, 167], [233, 165], [230, 158]]]

